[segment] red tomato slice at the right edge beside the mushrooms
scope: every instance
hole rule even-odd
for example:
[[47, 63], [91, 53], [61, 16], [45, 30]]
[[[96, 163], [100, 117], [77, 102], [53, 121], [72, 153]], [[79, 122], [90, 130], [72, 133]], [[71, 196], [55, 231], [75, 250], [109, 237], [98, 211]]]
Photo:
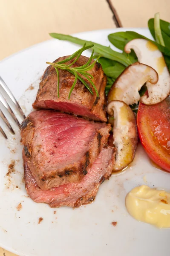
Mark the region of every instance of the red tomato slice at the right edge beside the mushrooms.
[[156, 105], [139, 103], [138, 134], [148, 156], [170, 172], [170, 97]]

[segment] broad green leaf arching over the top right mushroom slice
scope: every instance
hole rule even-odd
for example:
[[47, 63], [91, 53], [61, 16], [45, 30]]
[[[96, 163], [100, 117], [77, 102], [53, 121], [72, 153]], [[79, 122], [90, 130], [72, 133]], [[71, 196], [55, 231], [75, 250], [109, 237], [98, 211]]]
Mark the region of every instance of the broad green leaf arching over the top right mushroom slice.
[[150, 40], [149, 38], [145, 37], [144, 35], [140, 35], [133, 31], [126, 31], [126, 32], [116, 32], [113, 34], [108, 35], [109, 41], [118, 49], [124, 50], [124, 46], [127, 44], [127, 42], [136, 39], [136, 38], [144, 38], [153, 44], [156, 44], [158, 49], [163, 52], [165, 55], [170, 56], [170, 49], [167, 47], [162, 46], [161, 44], [156, 43], [153, 40]]

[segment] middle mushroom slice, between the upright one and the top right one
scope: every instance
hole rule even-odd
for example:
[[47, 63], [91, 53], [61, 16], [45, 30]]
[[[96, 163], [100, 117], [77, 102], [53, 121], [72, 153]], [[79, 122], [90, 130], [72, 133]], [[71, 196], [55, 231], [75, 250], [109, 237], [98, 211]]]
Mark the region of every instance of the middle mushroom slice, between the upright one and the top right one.
[[116, 79], [109, 91], [108, 102], [116, 99], [127, 105], [137, 104], [140, 98], [143, 98], [138, 93], [141, 87], [146, 82], [153, 86], [157, 81], [158, 74], [152, 67], [135, 62]]

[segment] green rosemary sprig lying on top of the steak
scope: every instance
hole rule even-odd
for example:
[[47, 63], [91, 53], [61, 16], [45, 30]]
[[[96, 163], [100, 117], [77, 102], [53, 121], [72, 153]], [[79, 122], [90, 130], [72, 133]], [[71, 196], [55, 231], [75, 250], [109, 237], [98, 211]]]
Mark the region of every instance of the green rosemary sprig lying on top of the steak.
[[[60, 93], [59, 93], [59, 71], [58, 69], [61, 70], [67, 70], [69, 73], [71, 73], [72, 75], [75, 76], [75, 80], [72, 84], [72, 87], [69, 91], [69, 96], [68, 99], [70, 98], [72, 91], [74, 90], [75, 84], [77, 83], [77, 80], [80, 80], [84, 86], [87, 88], [87, 90], [89, 90], [89, 92], [91, 94], [93, 94], [92, 89], [90, 88], [89, 84], [87, 84], [87, 82], [84, 80], [84, 78], [86, 78], [87, 81], [89, 81], [89, 83], [92, 85], [92, 87], [95, 89], [96, 95], [98, 97], [98, 90], [95, 87], [95, 84], [93, 83], [92, 79], [93, 76], [89, 73], [87, 73], [87, 71], [91, 70], [94, 66], [96, 61], [98, 61], [98, 59], [101, 57], [100, 55], [98, 56], [98, 58], [91, 64], [92, 59], [93, 59], [93, 55], [94, 55], [94, 50], [92, 51], [92, 54], [89, 58], [89, 60], [86, 62], [86, 64], [80, 66], [80, 67], [72, 67], [72, 65], [78, 61], [78, 59], [80, 58], [82, 52], [84, 52], [86, 49], [92, 48], [94, 45], [93, 44], [89, 44], [88, 46], [86, 46], [86, 43], [84, 44], [84, 46], [79, 49], [77, 52], [73, 53], [71, 56], [69, 56], [68, 58], [64, 59], [63, 61], [58, 61], [58, 62], [46, 62], [46, 64], [50, 64], [55, 68], [55, 71], [57, 73], [57, 92], [58, 92], [58, 98], [60, 98]], [[76, 57], [76, 58], [75, 58]], [[65, 64], [66, 62], [72, 60], [73, 58], [75, 58], [74, 61], [72, 61], [72, 63], [70, 64]], [[84, 78], [82, 78], [81, 76], [83, 76]]]

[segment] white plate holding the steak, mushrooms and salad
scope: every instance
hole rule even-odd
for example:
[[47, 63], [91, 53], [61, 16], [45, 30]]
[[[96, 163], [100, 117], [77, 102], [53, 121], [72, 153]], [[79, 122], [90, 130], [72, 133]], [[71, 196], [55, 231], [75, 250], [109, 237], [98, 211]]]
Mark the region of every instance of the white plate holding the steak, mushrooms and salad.
[[[127, 29], [98, 30], [76, 36], [109, 45], [107, 35]], [[151, 37], [147, 29], [128, 29]], [[46, 61], [69, 55], [80, 47], [55, 39], [37, 44], [0, 63], [0, 76], [26, 114], [32, 109], [38, 79]], [[114, 47], [113, 47], [114, 48]], [[90, 52], [86, 52], [89, 56]], [[33, 84], [33, 90], [26, 89]], [[92, 204], [79, 209], [51, 209], [36, 204], [26, 195], [20, 145], [20, 132], [7, 142], [0, 136], [0, 246], [26, 256], [169, 256], [170, 229], [159, 230], [135, 221], [126, 210], [125, 197], [135, 186], [170, 189], [170, 175], [153, 167], [139, 145], [133, 164], [120, 175], [105, 181]], [[7, 131], [6, 131], [7, 132]], [[14, 140], [15, 138], [15, 140]], [[6, 176], [15, 160], [15, 171]], [[18, 188], [16, 188], [18, 186]], [[18, 204], [22, 209], [17, 210]], [[56, 210], [56, 214], [54, 211]], [[38, 224], [39, 218], [43, 221]], [[114, 227], [112, 221], [117, 221]]]

